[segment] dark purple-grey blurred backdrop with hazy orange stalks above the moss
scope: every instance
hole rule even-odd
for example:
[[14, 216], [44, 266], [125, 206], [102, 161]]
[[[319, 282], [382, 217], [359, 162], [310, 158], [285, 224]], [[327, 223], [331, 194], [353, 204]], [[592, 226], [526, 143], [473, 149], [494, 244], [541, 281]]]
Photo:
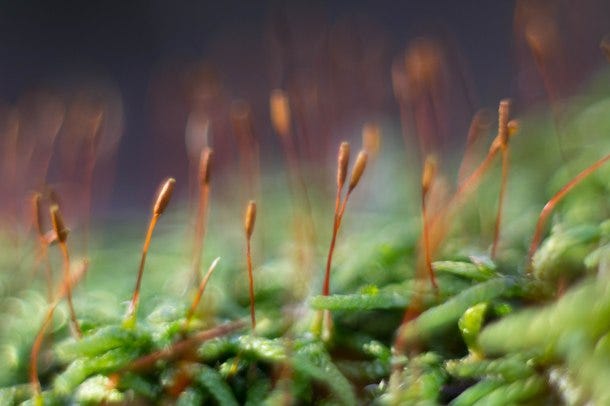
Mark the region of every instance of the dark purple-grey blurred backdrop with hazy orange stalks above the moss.
[[605, 0], [3, 2], [2, 210], [45, 185], [71, 212], [141, 206], [170, 175], [184, 197], [206, 144], [217, 173], [283, 165], [276, 88], [303, 165], [365, 123], [461, 153], [501, 98], [560, 116], [609, 27]]

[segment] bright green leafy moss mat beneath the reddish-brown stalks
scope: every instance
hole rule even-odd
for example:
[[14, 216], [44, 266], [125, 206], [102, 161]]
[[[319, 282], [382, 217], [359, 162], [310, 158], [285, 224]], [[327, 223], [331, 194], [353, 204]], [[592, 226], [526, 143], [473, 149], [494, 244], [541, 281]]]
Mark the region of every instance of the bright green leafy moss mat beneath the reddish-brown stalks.
[[[596, 89], [607, 82], [597, 80]], [[126, 298], [80, 292], [82, 336], [70, 333], [60, 304], [39, 354], [38, 388], [29, 360], [47, 305], [31, 290], [3, 293], [0, 404], [610, 404], [610, 169], [592, 173], [558, 204], [528, 255], [544, 203], [610, 149], [608, 112], [599, 97], [574, 100], [565, 132], [586, 147], [568, 143], [567, 161], [549, 147], [557, 140], [540, 114], [522, 118], [497, 255], [486, 251], [499, 177], [492, 166], [468, 198], [476, 204], [456, 208], [434, 253], [436, 287], [415, 271], [419, 211], [409, 219], [362, 209], [352, 216], [371, 219], [372, 229], [349, 232], [346, 217], [333, 294], [294, 300], [282, 277], [290, 260], [255, 268], [255, 329], [246, 285], [227, 287], [237, 275], [245, 279], [240, 258], [217, 273], [215, 299], [192, 319], [180, 295], [147, 298], [126, 319], [109, 304]], [[133, 275], [132, 264], [120, 265], [102, 273]], [[171, 261], [163, 267], [169, 279]], [[315, 326], [323, 311], [332, 326], [321, 336]]]

